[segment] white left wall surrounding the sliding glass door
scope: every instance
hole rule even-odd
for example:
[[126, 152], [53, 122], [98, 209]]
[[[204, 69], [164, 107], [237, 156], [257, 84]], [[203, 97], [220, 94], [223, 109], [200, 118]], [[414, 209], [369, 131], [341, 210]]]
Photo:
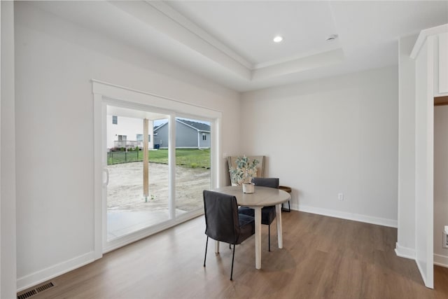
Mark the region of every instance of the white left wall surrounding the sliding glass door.
[[[91, 78], [223, 112], [223, 152], [239, 145], [239, 94], [106, 36], [16, 4], [18, 288], [92, 259]], [[57, 138], [55, 138], [57, 137]], [[221, 182], [227, 169], [221, 160]]]

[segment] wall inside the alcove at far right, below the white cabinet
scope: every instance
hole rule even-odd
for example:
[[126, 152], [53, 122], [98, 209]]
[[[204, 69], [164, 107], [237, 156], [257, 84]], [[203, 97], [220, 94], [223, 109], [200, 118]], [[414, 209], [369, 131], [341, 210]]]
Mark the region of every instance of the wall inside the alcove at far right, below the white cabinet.
[[434, 107], [434, 263], [448, 267], [442, 231], [448, 225], [448, 106]]

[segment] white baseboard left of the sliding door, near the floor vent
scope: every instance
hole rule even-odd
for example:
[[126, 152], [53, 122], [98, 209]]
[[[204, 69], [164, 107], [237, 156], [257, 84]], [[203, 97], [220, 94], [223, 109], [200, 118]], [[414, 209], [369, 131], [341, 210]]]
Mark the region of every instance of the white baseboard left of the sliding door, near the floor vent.
[[18, 292], [26, 290], [31, 286], [36, 286], [36, 284], [41, 284], [44, 281], [57, 277], [61, 274], [74, 270], [78, 267], [82, 267], [88, 263], [94, 261], [94, 251], [85, 253], [82, 256], [77, 256], [76, 258], [71, 258], [57, 265], [52, 265], [43, 270], [25, 275], [17, 279]]

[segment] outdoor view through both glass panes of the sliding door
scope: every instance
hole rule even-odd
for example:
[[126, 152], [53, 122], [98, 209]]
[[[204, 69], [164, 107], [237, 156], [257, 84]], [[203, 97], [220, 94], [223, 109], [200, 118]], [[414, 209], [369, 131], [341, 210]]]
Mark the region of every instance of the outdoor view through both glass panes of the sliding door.
[[[176, 118], [175, 123], [176, 173], [172, 215], [169, 209], [168, 119], [146, 120], [146, 133], [142, 118], [110, 116], [107, 124], [108, 240], [168, 221], [172, 216], [203, 209], [202, 190], [209, 189], [211, 183], [210, 124], [183, 118]], [[148, 134], [148, 139], [144, 140], [144, 134]], [[147, 170], [144, 169], [146, 141]]]

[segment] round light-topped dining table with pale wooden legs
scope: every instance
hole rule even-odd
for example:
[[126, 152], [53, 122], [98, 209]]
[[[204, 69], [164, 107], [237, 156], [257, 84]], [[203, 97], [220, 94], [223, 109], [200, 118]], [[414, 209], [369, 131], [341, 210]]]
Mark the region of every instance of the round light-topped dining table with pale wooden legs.
[[[279, 249], [282, 249], [281, 204], [290, 200], [290, 194], [283, 190], [262, 186], [255, 186], [254, 193], [243, 193], [241, 186], [226, 186], [216, 188], [214, 191], [233, 195], [237, 197], [239, 206], [255, 210], [255, 268], [261, 269], [261, 209], [275, 205], [277, 237]], [[219, 242], [216, 242], [215, 251], [219, 253]]]

